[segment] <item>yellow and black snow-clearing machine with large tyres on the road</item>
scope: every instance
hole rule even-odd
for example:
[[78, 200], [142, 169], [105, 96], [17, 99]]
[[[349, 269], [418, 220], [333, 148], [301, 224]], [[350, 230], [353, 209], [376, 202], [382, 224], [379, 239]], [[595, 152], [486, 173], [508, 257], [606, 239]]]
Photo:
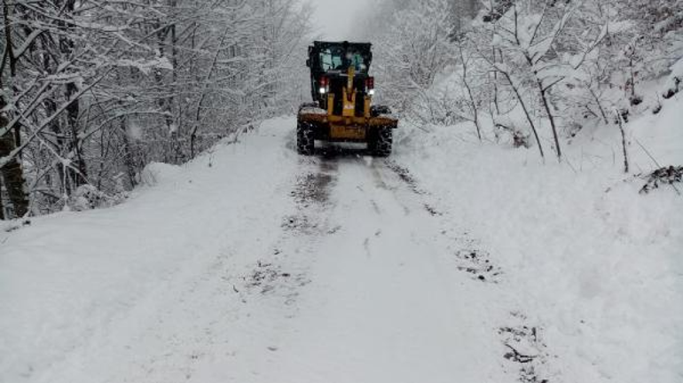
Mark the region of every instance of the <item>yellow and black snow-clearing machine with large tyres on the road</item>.
[[309, 47], [312, 103], [299, 108], [296, 147], [315, 152], [315, 142], [365, 143], [375, 156], [391, 154], [398, 121], [389, 107], [374, 106], [373, 61], [370, 43], [314, 42]]

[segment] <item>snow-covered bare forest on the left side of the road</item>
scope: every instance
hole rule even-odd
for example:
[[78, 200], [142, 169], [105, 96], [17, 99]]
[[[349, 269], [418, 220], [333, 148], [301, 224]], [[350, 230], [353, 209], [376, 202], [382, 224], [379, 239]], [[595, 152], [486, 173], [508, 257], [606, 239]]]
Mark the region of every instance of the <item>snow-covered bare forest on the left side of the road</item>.
[[0, 218], [125, 198], [298, 100], [294, 0], [3, 2]]

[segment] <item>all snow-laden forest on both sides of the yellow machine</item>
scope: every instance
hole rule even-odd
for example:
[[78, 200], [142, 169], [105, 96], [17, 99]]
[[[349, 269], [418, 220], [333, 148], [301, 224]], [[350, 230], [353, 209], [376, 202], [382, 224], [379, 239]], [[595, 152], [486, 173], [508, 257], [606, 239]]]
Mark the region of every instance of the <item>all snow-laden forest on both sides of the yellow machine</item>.
[[[294, 0], [5, 0], [0, 218], [125, 199], [151, 162], [180, 164], [307, 101], [315, 4]], [[405, 121], [471, 122], [543, 159], [585, 127], [661, 109], [683, 78], [680, 0], [378, 0], [381, 101]], [[668, 77], [663, 89], [648, 82]]]

